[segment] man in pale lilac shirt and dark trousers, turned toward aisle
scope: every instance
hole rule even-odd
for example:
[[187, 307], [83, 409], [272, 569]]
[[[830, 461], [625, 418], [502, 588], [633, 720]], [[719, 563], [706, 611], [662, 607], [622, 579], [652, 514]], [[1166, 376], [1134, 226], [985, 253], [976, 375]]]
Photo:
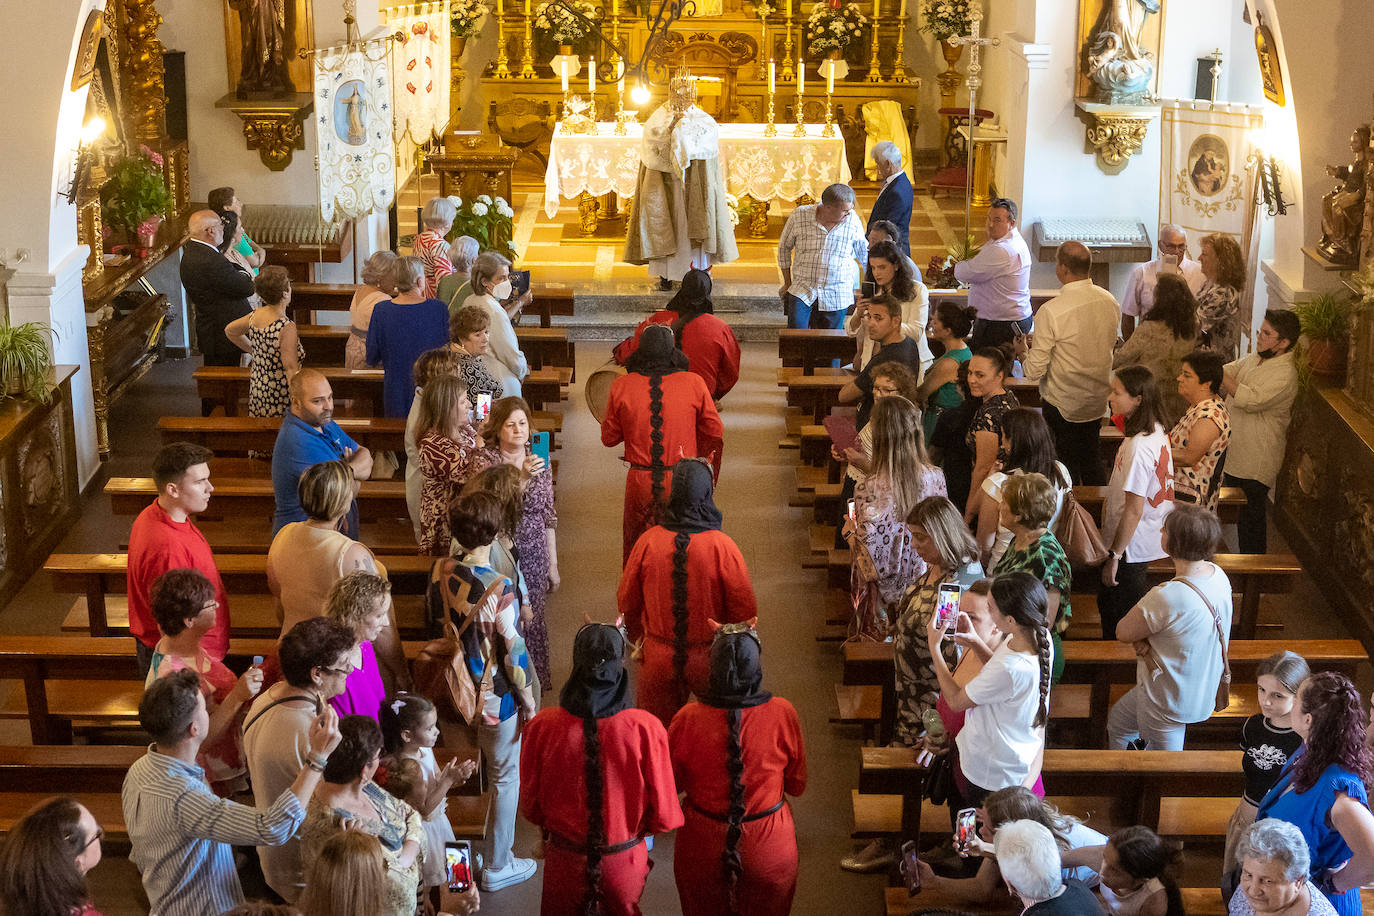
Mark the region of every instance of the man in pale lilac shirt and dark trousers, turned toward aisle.
[[1030, 332], [1030, 249], [1017, 231], [1015, 201], [992, 201], [987, 231], [978, 255], [954, 265], [955, 277], [969, 284], [969, 305], [978, 312], [969, 338], [974, 350]]

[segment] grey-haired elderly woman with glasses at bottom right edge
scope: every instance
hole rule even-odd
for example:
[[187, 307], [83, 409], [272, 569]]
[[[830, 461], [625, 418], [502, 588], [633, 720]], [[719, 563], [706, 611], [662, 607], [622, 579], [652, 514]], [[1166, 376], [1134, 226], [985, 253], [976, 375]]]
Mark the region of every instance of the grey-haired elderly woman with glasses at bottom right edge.
[[1241, 889], [1231, 916], [1336, 916], [1336, 908], [1308, 878], [1311, 860], [1303, 831], [1265, 817], [1241, 838]]

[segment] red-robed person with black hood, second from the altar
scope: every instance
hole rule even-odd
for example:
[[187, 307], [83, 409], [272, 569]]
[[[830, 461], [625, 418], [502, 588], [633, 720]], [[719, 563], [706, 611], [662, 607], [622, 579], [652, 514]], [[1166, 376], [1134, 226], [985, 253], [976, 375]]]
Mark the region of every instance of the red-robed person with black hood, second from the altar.
[[706, 383], [686, 371], [687, 357], [673, 346], [669, 328], [644, 328], [625, 368], [629, 372], [610, 386], [602, 417], [602, 445], [624, 442], [629, 461], [622, 562], [639, 536], [658, 522], [668, 501], [671, 466], [679, 457], [719, 455], [725, 434]]

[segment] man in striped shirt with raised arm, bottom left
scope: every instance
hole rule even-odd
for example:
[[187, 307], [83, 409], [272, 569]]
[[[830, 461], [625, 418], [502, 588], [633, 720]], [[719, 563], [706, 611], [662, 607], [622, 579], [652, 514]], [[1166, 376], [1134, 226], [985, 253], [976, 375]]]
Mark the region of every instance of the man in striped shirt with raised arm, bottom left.
[[243, 902], [232, 846], [279, 846], [305, 820], [305, 803], [338, 747], [330, 706], [311, 725], [300, 776], [268, 809], [218, 798], [195, 764], [210, 728], [199, 676], [184, 669], [143, 694], [139, 722], [153, 736], [148, 753], [124, 777], [124, 820], [143, 875], [151, 916], [205, 916]]

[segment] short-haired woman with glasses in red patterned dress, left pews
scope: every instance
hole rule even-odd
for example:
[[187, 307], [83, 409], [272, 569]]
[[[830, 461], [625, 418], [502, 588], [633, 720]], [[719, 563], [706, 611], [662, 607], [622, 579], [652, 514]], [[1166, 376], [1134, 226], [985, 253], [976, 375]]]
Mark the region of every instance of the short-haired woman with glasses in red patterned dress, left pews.
[[153, 618], [162, 639], [153, 648], [147, 684], [181, 669], [201, 676], [210, 728], [196, 754], [196, 764], [216, 795], [228, 798], [247, 788], [239, 713], [262, 689], [262, 667], [251, 666], [243, 677], [206, 654], [201, 640], [214, 626], [220, 603], [214, 586], [196, 570], [168, 570], [153, 581]]

